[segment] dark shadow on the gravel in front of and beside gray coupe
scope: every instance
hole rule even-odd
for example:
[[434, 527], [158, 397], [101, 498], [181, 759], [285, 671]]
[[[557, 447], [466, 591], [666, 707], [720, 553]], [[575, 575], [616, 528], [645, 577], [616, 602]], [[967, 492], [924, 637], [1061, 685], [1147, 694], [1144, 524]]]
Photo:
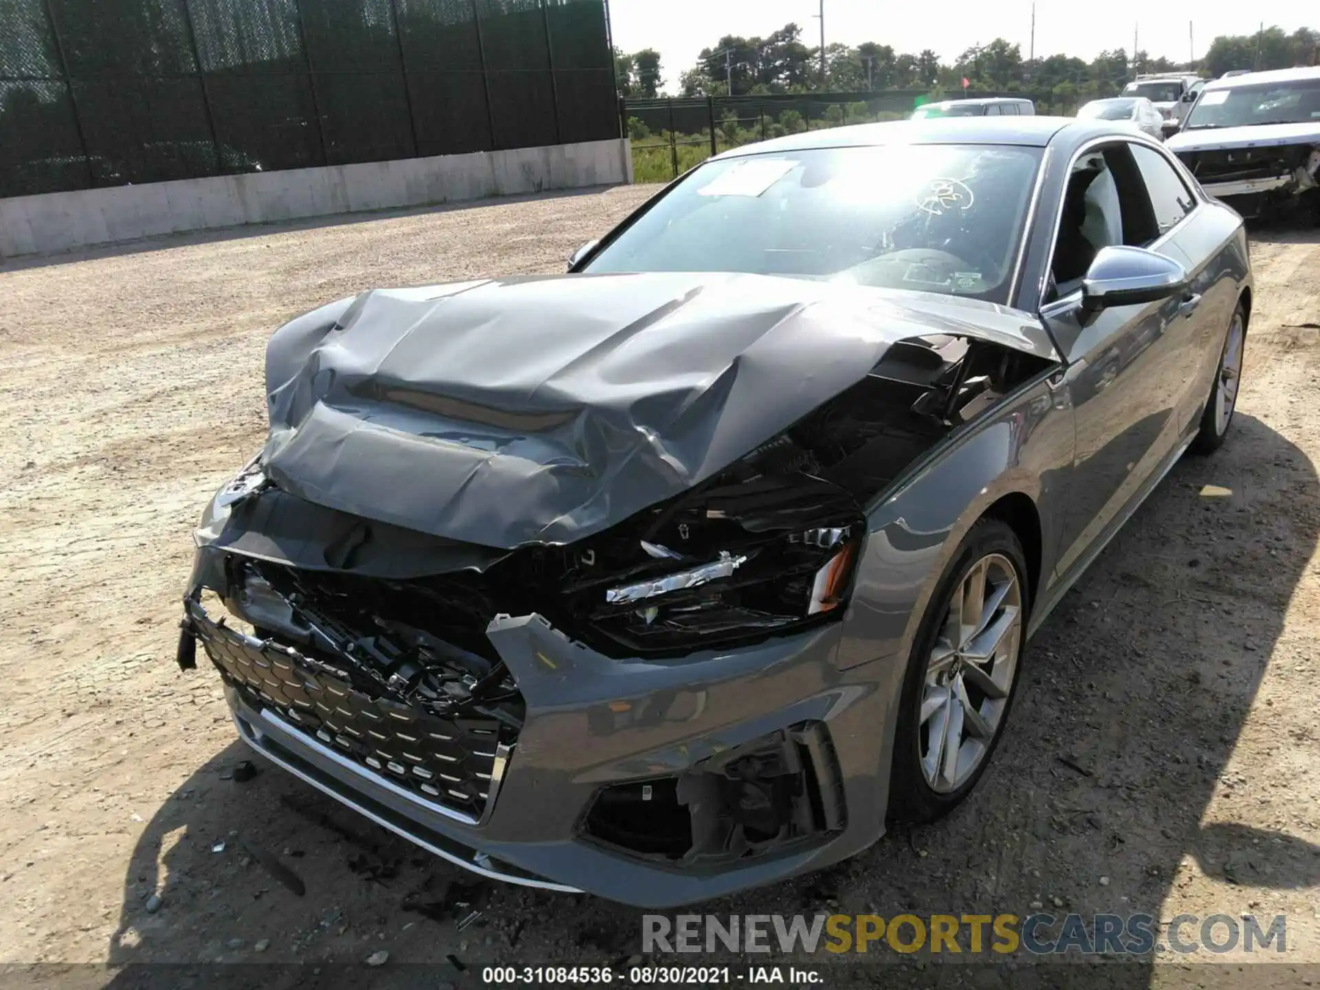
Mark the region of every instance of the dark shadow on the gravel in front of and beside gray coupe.
[[[1203, 498], [1204, 484], [1233, 494]], [[1265, 764], [1259, 752], [1232, 767], [1230, 758], [1267, 667], [1295, 660], [1298, 647], [1279, 636], [1317, 532], [1320, 484], [1309, 461], [1239, 413], [1218, 454], [1175, 467], [1032, 642], [1006, 738], [964, 807], [825, 873], [690, 911], [1160, 919], [1189, 862], [1230, 884], [1316, 884], [1316, 846], [1230, 821], [1203, 828], [1201, 820], [1216, 796], [1216, 818], [1243, 809], [1233, 791]], [[214, 673], [203, 664], [197, 676]], [[226, 779], [244, 759], [257, 776]], [[1259, 820], [1255, 803], [1270, 796], [1254, 793]], [[282, 871], [305, 887], [302, 896]], [[160, 896], [154, 911], [152, 894]], [[1247, 895], [1228, 892], [1214, 909], [1250, 913]], [[1048, 931], [1057, 928], [1041, 936]], [[116, 986], [143, 986], [152, 974], [161, 985], [210, 986], [219, 970], [206, 964], [215, 961], [315, 964], [329, 966], [329, 975], [384, 950], [388, 966], [370, 970], [370, 981], [358, 970], [356, 982], [391, 985], [408, 972], [393, 968], [407, 961], [430, 964], [412, 970], [429, 986], [469, 986], [480, 985], [480, 968], [495, 962], [624, 966], [640, 952], [640, 935], [639, 911], [490, 884], [434, 861], [235, 742], [148, 824], [108, 958], [194, 964], [129, 966]], [[1179, 973], [1210, 986], [1232, 982], [1214, 975], [1228, 972], [1222, 966], [1184, 970], [1143, 960], [1060, 968], [1022, 952], [972, 957], [965, 931], [962, 940], [960, 957], [920, 960], [923, 952], [917, 964], [878, 944], [862, 957], [681, 961], [739, 970], [792, 961], [828, 973], [830, 987], [995, 986], [1006, 972], [1023, 986], [1181, 986]], [[945, 965], [977, 958], [1002, 965]], [[1284, 968], [1271, 970], [1271, 985], [1291, 982]], [[306, 966], [224, 972], [247, 973], [251, 985], [310, 981]]]

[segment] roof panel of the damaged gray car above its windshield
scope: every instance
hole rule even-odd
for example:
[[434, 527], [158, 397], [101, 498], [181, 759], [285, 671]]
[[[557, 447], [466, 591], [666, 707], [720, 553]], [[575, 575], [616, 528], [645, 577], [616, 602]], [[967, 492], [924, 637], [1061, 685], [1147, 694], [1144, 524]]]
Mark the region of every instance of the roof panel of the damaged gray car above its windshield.
[[1048, 116], [928, 117], [807, 131], [746, 144], [717, 157], [741, 158], [748, 154], [801, 152], [810, 148], [865, 148], [887, 144], [1015, 144], [1044, 148], [1056, 139], [1073, 144], [1106, 133], [1131, 137], [1130, 129], [1115, 127], [1111, 120]]

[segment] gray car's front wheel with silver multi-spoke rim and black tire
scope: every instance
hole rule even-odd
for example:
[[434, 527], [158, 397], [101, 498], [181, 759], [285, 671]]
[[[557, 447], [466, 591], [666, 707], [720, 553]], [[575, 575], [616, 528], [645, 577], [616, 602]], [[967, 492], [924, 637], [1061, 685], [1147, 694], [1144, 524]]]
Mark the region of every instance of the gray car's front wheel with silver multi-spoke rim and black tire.
[[890, 814], [935, 821], [985, 772], [1018, 688], [1030, 603], [1016, 535], [982, 519], [927, 606], [903, 680]]

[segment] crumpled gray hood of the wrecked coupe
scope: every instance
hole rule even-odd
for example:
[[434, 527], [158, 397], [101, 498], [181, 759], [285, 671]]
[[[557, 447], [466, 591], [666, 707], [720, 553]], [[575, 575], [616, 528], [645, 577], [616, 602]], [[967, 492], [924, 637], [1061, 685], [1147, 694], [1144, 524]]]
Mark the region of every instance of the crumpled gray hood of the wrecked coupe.
[[991, 304], [751, 275], [572, 275], [376, 290], [267, 350], [284, 491], [513, 549], [599, 532], [862, 380], [895, 341], [1052, 356]]

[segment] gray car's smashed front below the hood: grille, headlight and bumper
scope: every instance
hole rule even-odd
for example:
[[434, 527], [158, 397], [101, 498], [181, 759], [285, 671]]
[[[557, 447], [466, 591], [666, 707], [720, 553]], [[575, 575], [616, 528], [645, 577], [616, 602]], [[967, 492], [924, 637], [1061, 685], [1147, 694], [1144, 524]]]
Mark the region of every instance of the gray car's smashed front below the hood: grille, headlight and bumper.
[[[803, 455], [403, 574], [389, 527], [294, 510], [252, 466], [199, 531], [180, 663], [201, 644], [275, 763], [478, 873], [665, 904], [824, 865], [853, 851], [829, 723], [869, 701], [833, 664], [865, 520]], [[323, 533], [272, 560], [302, 516]]]

